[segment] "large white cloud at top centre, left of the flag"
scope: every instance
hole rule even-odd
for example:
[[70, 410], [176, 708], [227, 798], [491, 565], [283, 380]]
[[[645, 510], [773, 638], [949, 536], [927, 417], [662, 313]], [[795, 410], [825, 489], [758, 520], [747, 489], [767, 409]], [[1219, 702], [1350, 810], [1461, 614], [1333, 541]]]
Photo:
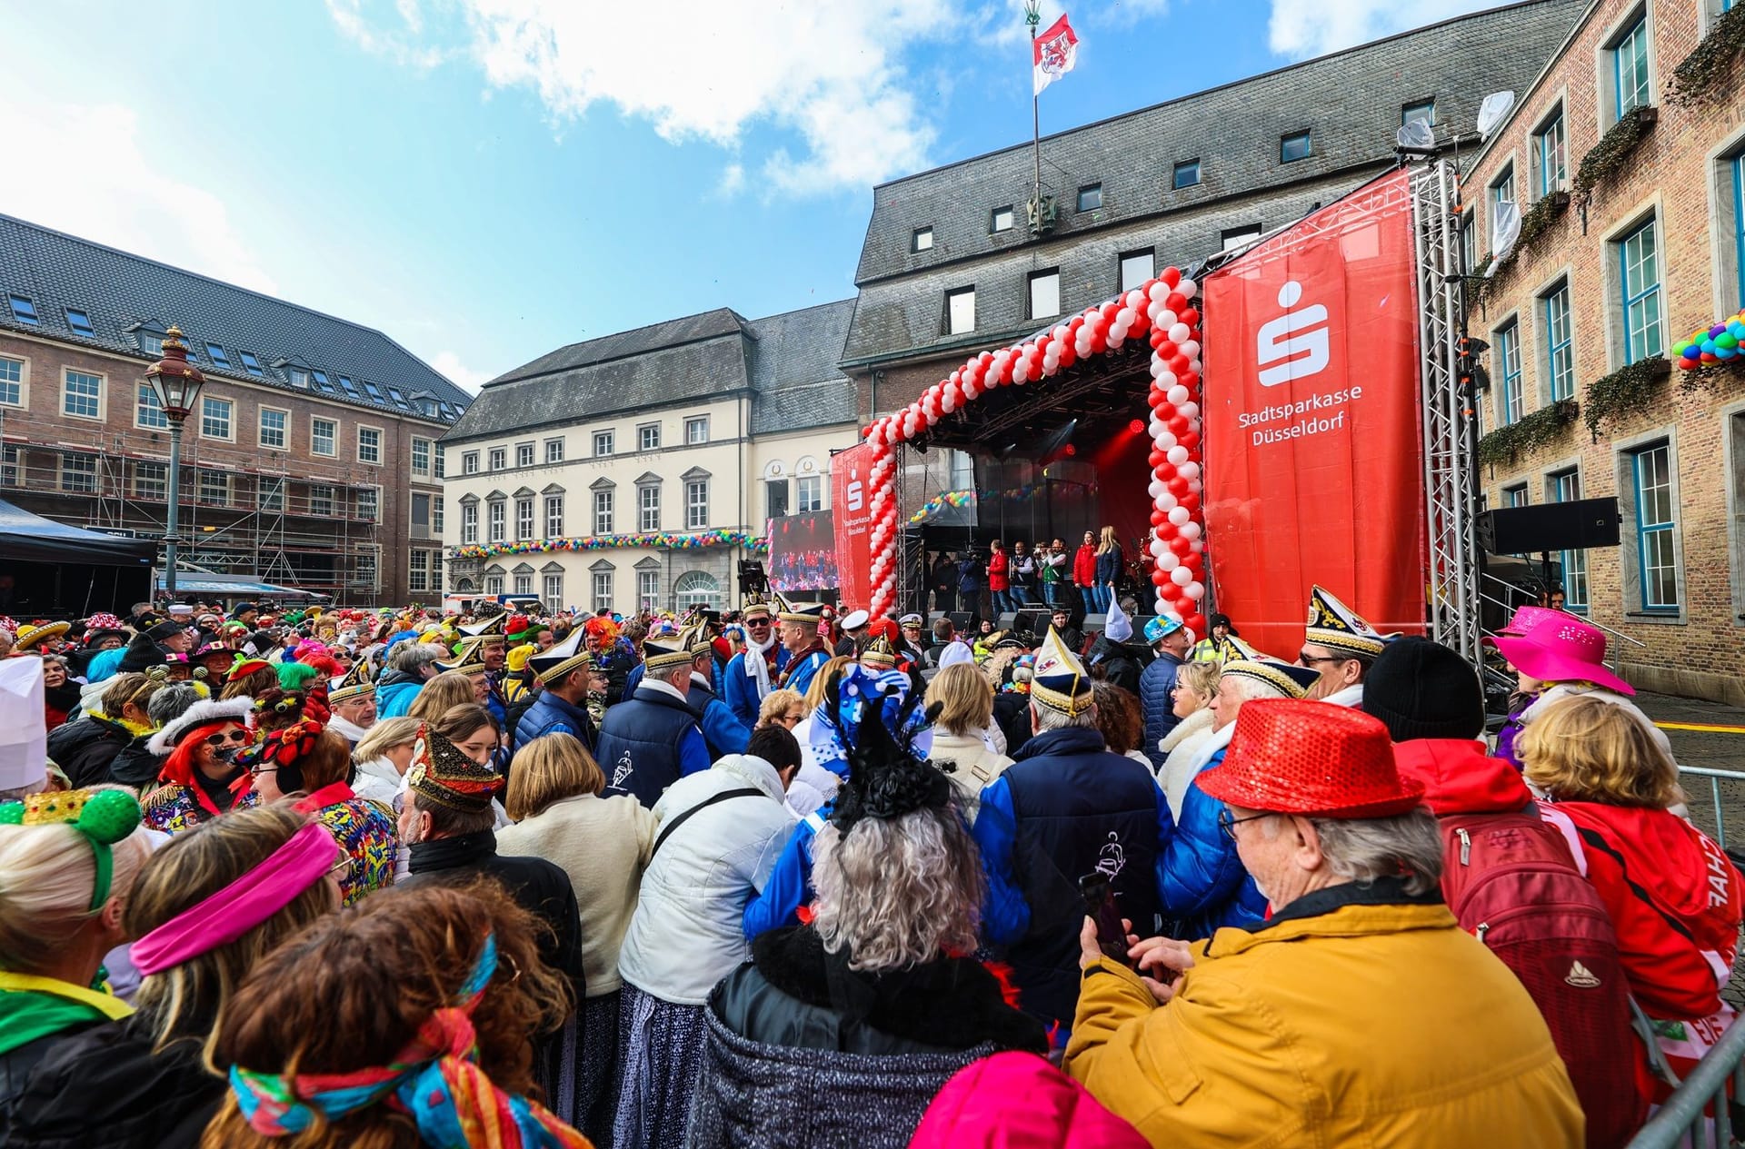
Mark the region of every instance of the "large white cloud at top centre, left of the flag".
[[[763, 174], [801, 194], [864, 188], [927, 166], [935, 133], [902, 54], [958, 19], [939, 0], [459, 2], [464, 30], [429, 35], [462, 37], [492, 89], [532, 91], [553, 124], [611, 105], [668, 141], [724, 148], [768, 124], [803, 146], [771, 153]], [[445, 51], [415, 31], [428, 23], [415, 0], [396, 0], [384, 21], [363, 5], [328, 0], [339, 30], [365, 49], [414, 63]]]

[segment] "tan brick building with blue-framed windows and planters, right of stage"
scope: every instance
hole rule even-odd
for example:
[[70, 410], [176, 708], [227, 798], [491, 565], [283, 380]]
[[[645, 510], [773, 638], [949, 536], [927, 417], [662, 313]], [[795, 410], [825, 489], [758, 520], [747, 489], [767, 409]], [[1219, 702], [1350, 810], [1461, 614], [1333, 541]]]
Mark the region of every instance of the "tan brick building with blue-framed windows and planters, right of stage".
[[1736, 45], [1742, 19], [1721, 0], [1588, 5], [1516, 89], [1464, 194], [1475, 267], [1487, 265], [1497, 206], [1522, 218], [1522, 241], [1468, 316], [1488, 342], [1488, 504], [1616, 493], [1621, 546], [1553, 556], [1569, 607], [1614, 631], [1630, 682], [1735, 704], [1745, 703], [1745, 371], [1686, 387], [1666, 357], [1745, 305], [1738, 49], [1724, 47], [1689, 96], [1675, 78], [1684, 61]]

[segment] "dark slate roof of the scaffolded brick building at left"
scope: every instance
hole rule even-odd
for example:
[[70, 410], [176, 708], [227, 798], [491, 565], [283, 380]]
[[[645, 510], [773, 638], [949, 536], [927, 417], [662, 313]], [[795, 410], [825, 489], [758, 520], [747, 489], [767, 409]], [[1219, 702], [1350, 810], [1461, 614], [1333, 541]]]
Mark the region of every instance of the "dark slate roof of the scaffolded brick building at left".
[[[37, 323], [19, 321], [7, 295], [28, 298]], [[92, 335], [73, 330], [66, 309], [86, 312]], [[318, 394], [340, 403], [419, 415], [410, 403], [417, 391], [428, 391], [455, 413], [471, 401], [461, 387], [373, 328], [0, 214], [0, 328], [120, 350], [145, 363], [157, 356], [140, 349], [138, 324], [155, 331], [180, 326], [188, 357], [202, 371], [251, 384], [293, 391], [288, 375], [274, 366], [291, 361], [325, 370], [332, 391]], [[230, 366], [218, 366], [206, 343], [218, 343]], [[244, 350], [258, 359], [262, 377], [244, 370]], [[356, 398], [342, 391], [339, 375], [354, 382]], [[365, 380], [382, 392], [380, 403], [368, 396]], [[389, 387], [407, 403], [387, 398]]]

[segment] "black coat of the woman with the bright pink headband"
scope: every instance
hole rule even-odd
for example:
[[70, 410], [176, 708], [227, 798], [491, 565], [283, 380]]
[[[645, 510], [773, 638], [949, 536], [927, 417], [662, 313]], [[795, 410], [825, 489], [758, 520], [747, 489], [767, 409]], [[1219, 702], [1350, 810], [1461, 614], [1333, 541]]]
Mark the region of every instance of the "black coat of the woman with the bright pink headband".
[[176, 1041], [152, 1053], [138, 1018], [92, 1025], [54, 1043], [0, 1114], [0, 1144], [33, 1149], [195, 1149], [225, 1083], [201, 1050]]

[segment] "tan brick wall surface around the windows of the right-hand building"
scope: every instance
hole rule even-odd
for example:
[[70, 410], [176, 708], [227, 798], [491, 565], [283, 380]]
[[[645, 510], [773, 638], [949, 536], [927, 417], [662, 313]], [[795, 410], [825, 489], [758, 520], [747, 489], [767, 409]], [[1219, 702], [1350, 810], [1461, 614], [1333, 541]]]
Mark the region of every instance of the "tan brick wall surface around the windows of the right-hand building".
[[[1700, 0], [1701, 2], [1701, 0]], [[1466, 183], [1485, 253], [1490, 237], [1490, 185], [1515, 167], [1516, 195], [1525, 211], [1541, 192], [1536, 134], [1562, 103], [1567, 173], [1574, 180], [1583, 157], [1614, 120], [1611, 49], [1618, 33], [1646, 12], [1649, 33], [1649, 101], [1658, 122], [1630, 153], [1623, 171], [1595, 187], [1583, 206], [1572, 204], [1546, 234], [1499, 272], [1473, 307], [1469, 330], [1492, 343], [1483, 427], [1502, 422], [1499, 330], [1515, 321], [1520, 356], [1522, 411], [1550, 401], [1548, 323], [1543, 291], [1567, 279], [1574, 321], [1574, 398], [1586, 406], [1588, 387], [1644, 356], [1633, 338], [1626, 356], [1623, 282], [1618, 241], [1639, 223], [1654, 221], [1661, 282], [1663, 354], [1696, 326], [1742, 305], [1735, 262], [1736, 211], [1731, 159], [1745, 146], [1745, 85], [1735, 65], [1731, 85], [1707, 103], [1677, 105], [1666, 98], [1673, 68], [1701, 40], [1712, 17], [1700, 3], [1651, 0], [1607, 2], [1590, 10], [1548, 73], [1522, 94], [1513, 119], [1476, 159]], [[1576, 466], [1584, 497], [1619, 495], [1623, 546], [1588, 551], [1590, 617], [1623, 631], [1640, 647], [1621, 647], [1625, 675], [1637, 685], [1745, 703], [1745, 598], [1740, 554], [1745, 546], [1735, 523], [1735, 500], [1745, 490], [1745, 370], [1705, 391], [1680, 389], [1680, 371], [1658, 387], [1647, 413], [1602, 427], [1598, 441], [1577, 420], [1567, 434], [1509, 466], [1485, 467], [1490, 506], [1506, 506], [1504, 488], [1525, 483], [1529, 500], [1548, 500], [1548, 476]], [[1640, 553], [1635, 532], [1635, 483], [1630, 452], [1666, 441], [1672, 448], [1679, 605], [1665, 614], [1644, 608]], [[1623, 481], [1619, 481], [1623, 478]], [[1745, 504], [1742, 504], [1745, 506]]]

